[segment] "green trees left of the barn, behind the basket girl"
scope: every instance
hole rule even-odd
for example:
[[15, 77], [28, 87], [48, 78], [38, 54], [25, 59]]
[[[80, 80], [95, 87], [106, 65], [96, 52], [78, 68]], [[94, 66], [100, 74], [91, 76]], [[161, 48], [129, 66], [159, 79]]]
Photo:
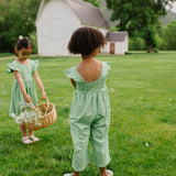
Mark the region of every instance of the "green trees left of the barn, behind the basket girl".
[[38, 0], [1, 0], [0, 52], [13, 52], [19, 35], [30, 37], [35, 29]]

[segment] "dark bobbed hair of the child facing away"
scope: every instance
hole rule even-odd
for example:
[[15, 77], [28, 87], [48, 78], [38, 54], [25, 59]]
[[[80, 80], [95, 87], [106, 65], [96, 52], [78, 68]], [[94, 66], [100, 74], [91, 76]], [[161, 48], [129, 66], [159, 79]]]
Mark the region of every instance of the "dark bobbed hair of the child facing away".
[[89, 55], [98, 47], [103, 47], [107, 43], [102, 33], [92, 28], [77, 29], [68, 43], [68, 51], [73, 54]]

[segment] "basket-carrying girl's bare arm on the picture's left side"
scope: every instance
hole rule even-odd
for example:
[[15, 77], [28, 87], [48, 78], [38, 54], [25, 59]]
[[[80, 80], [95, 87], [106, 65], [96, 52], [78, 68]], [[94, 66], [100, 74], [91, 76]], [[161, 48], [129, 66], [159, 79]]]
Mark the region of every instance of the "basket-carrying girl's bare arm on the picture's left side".
[[22, 95], [24, 96], [24, 99], [26, 102], [32, 102], [32, 98], [26, 94], [25, 91], [25, 87], [24, 87], [24, 84], [23, 84], [23, 79], [21, 77], [21, 74], [16, 70], [13, 70], [13, 74], [19, 82], [19, 86], [20, 86], [20, 90], [22, 92]]

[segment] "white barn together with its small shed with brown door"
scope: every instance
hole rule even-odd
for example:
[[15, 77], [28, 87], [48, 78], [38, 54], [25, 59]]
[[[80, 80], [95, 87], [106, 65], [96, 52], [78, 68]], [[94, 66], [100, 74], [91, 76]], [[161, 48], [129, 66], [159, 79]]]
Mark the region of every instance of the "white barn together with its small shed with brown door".
[[108, 44], [101, 53], [128, 52], [128, 33], [118, 41], [120, 33], [109, 33], [109, 25], [99, 9], [82, 0], [42, 0], [35, 25], [38, 54], [42, 56], [69, 55], [68, 41], [80, 26], [96, 28], [103, 33]]

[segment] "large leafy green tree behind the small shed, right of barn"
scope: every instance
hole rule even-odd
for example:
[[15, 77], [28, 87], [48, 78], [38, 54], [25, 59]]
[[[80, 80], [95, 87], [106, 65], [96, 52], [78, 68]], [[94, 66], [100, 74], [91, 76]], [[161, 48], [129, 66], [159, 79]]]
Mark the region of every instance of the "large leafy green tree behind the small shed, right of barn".
[[131, 36], [143, 37], [150, 53], [157, 48], [155, 33], [158, 18], [166, 14], [166, 6], [175, 0], [106, 0], [112, 10], [111, 20], [119, 20], [117, 29]]

